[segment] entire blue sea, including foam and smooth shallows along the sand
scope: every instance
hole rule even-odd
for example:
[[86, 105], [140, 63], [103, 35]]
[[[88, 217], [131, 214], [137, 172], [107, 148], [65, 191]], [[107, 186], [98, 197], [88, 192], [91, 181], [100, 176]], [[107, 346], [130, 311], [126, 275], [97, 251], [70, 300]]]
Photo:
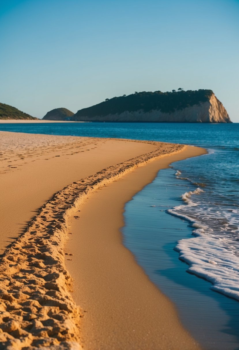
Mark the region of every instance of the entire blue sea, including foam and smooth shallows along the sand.
[[125, 205], [123, 241], [204, 349], [239, 349], [239, 123], [30, 123], [0, 130], [206, 148], [206, 155], [160, 170]]

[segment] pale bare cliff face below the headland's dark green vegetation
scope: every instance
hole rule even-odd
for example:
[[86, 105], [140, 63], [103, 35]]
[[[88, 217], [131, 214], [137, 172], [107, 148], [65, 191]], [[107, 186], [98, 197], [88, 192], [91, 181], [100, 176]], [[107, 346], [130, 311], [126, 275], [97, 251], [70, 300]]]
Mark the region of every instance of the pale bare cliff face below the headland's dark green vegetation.
[[122, 113], [107, 114], [105, 116], [75, 116], [72, 120], [81, 121], [120, 121], [120, 122], [178, 122], [178, 123], [231, 123], [223, 104], [214, 93], [206, 102], [200, 102], [173, 112], [163, 113], [161, 110], [145, 112], [124, 111]]

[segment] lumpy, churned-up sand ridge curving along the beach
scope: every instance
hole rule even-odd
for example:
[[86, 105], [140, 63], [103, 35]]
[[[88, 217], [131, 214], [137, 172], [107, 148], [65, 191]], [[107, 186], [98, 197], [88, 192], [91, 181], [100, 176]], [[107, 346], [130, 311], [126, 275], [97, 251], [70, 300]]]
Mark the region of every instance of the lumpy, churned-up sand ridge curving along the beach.
[[27, 231], [7, 249], [0, 268], [0, 336], [5, 348], [8, 345], [16, 349], [26, 346], [58, 349], [59, 345], [80, 348], [78, 322], [82, 315], [69, 292], [71, 277], [64, 266], [68, 220], [96, 189], [152, 160], [186, 148], [162, 142], [145, 143], [158, 148], [57, 192], [42, 206]]

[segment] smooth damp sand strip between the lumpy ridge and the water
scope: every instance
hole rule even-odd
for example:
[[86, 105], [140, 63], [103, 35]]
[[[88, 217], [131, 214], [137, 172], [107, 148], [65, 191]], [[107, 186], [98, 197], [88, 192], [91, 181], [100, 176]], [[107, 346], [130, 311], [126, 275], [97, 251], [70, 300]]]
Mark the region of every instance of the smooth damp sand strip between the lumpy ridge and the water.
[[80, 219], [72, 223], [67, 252], [73, 256], [66, 266], [74, 279], [73, 298], [86, 311], [81, 321], [84, 349], [200, 348], [182, 327], [172, 302], [123, 245], [121, 233], [125, 203], [152, 182], [158, 170], [200, 154], [205, 154], [202, 148], [187, 146], [152, 161], [93, 193], [81, 206]]

